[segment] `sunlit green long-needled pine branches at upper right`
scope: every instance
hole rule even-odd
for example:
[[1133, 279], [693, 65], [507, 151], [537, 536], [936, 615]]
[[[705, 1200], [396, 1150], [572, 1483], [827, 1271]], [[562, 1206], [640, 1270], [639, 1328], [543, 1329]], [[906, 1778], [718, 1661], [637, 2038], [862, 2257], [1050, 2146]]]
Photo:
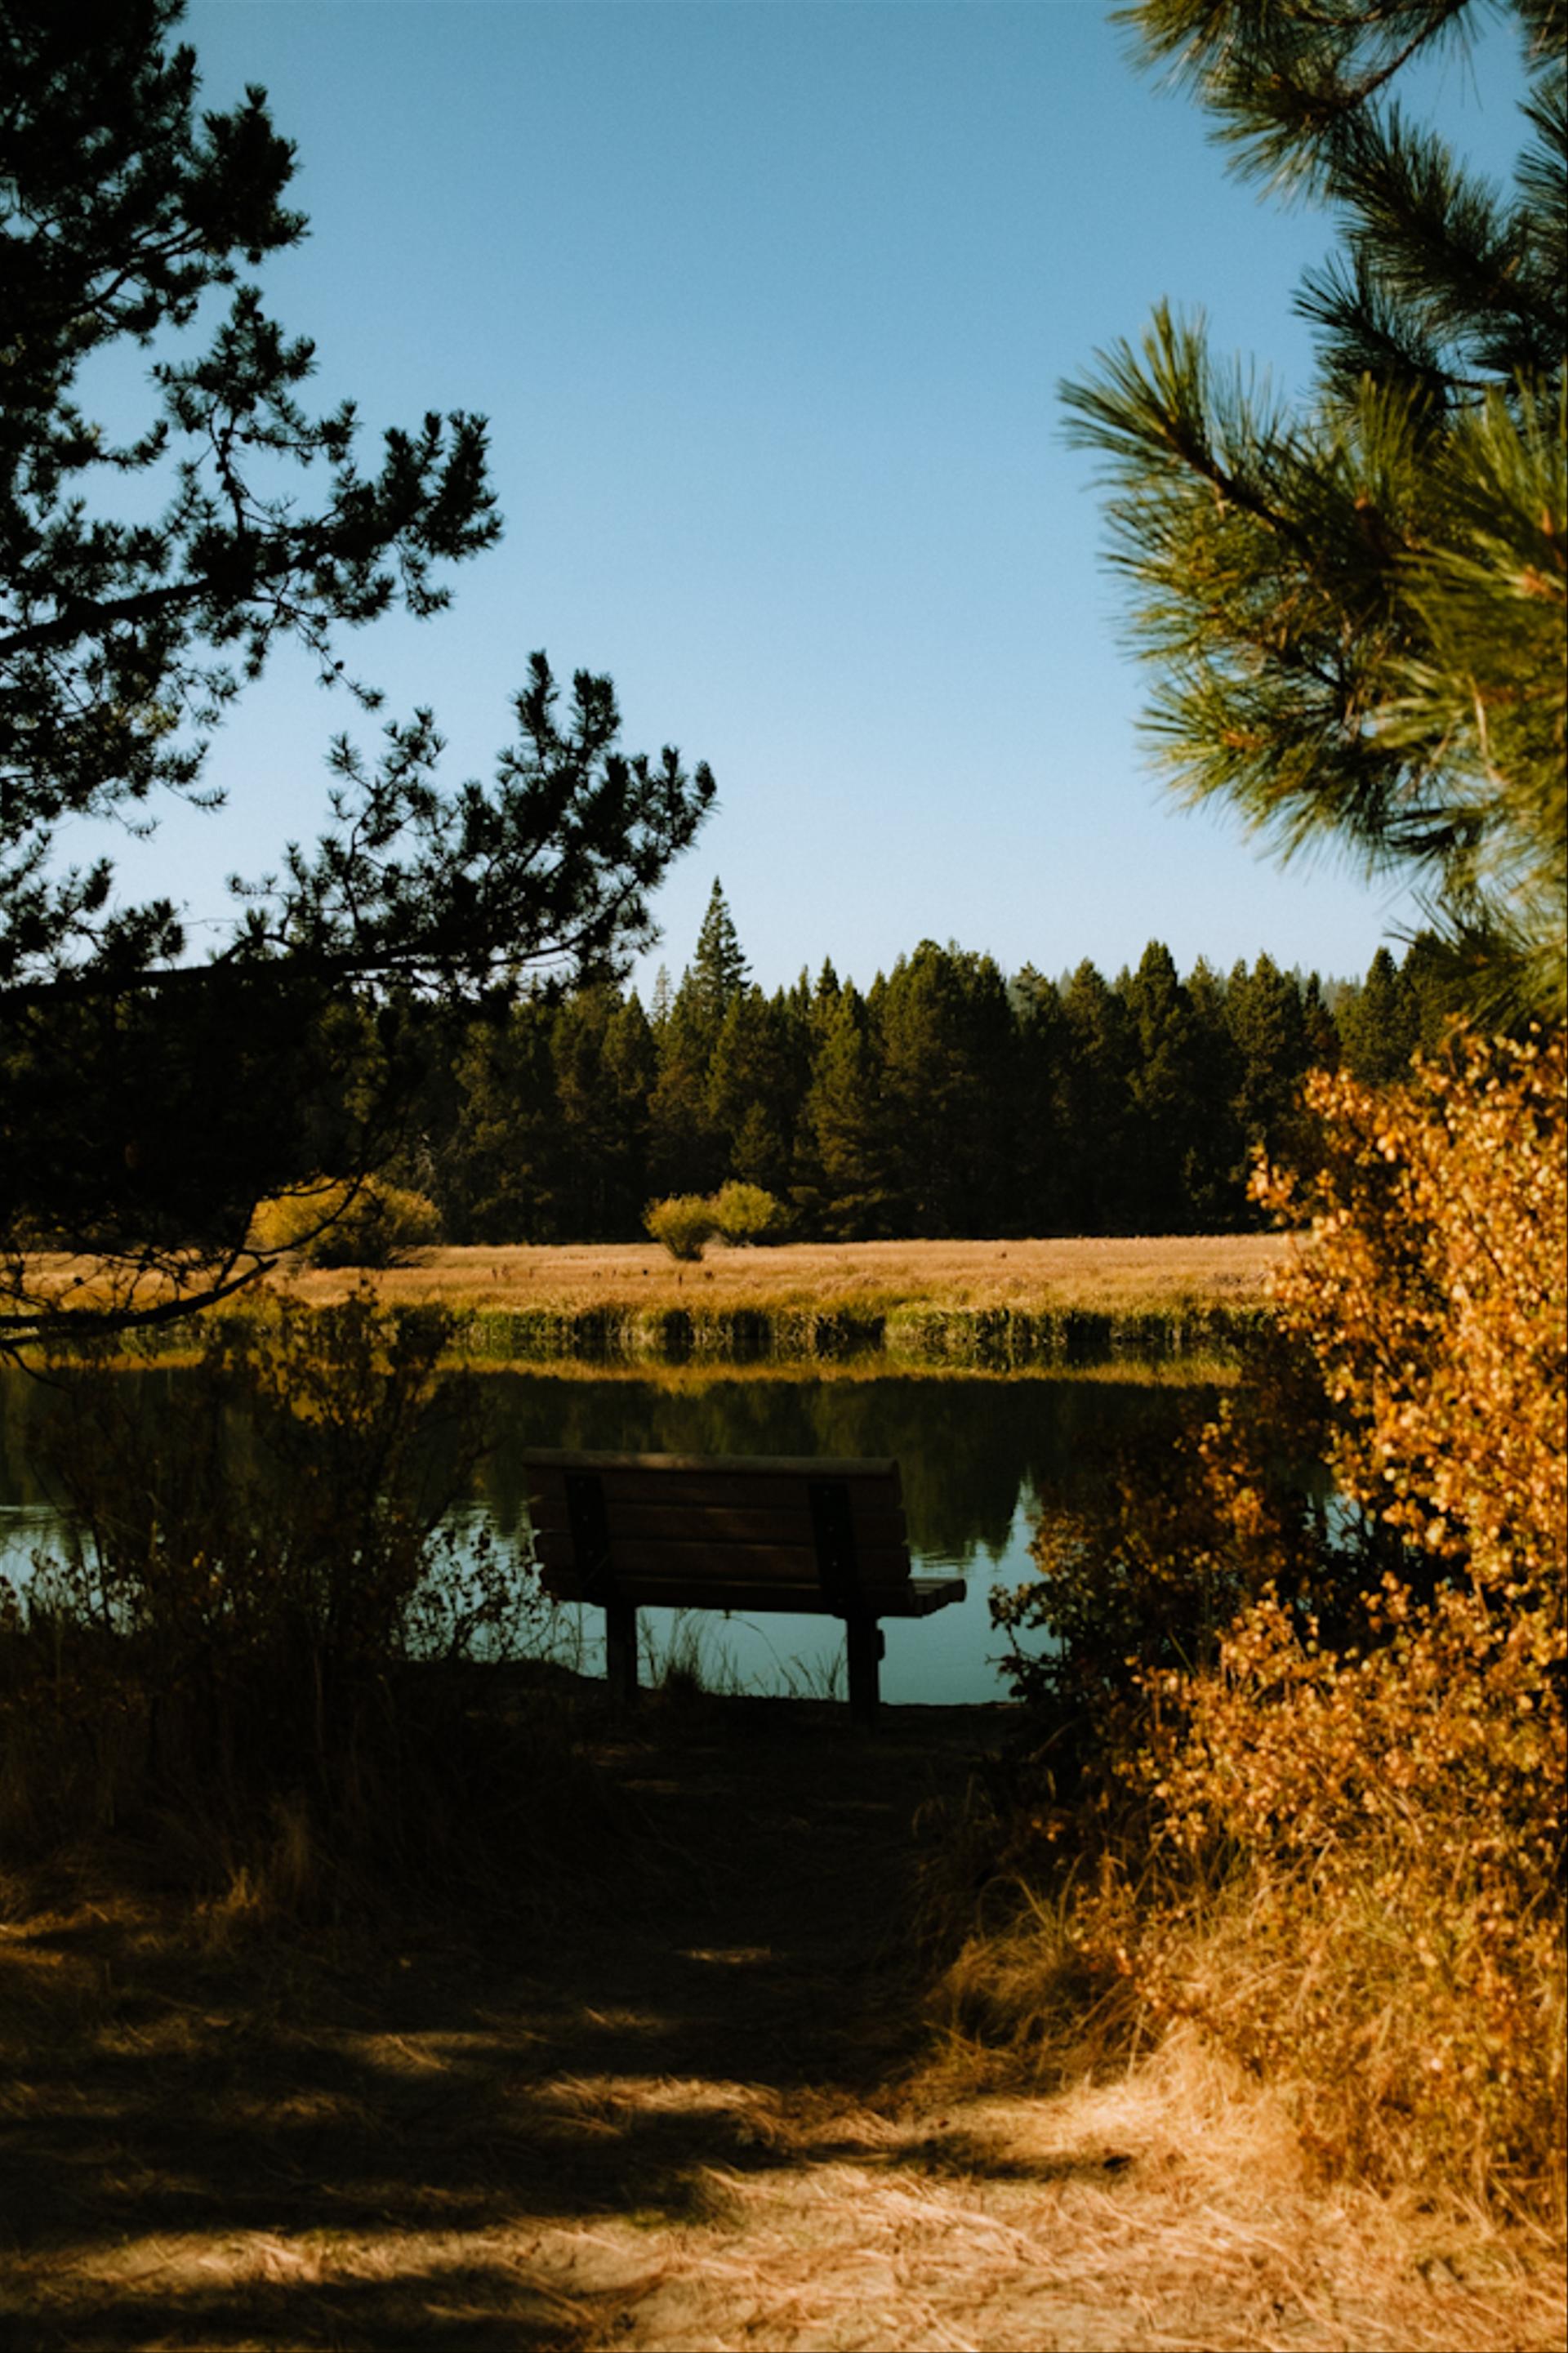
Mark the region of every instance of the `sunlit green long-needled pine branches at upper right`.
[[1568, 9], [1511, 0], [1530, 92], [1514, 188], [1389, 96], [1474, 0], [1140, 0], [1142, 52], [1236, 169], [1326, 202], [1311, 400], [1161, 306], [1064, 388], [1109, 461], [1114, 560], [1180, 788], [1290, 854], [1326, 835], [1429, 896], [1481, 986], [1568, 1007]]

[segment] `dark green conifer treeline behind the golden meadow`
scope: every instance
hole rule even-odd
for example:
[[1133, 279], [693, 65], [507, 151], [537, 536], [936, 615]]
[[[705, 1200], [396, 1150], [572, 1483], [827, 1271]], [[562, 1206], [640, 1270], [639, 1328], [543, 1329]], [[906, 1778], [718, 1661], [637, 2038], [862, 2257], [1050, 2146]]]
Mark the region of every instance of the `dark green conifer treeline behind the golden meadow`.
[[829, 962], [770, 998], [713, 885], [647, 1009], [586, 988], [469, 1024], [403, 1174], [452, 1242], [631, 1240], [732, 1176], [800, 1238], [1227, 1231], [1314, 1064], [1391, 1078], [1439, 1024], [1420, 941], [1328, 991], [1267, 955], [1182, 979], [1158, 941], [1114, 981], [1008, 981], [923, 941], [864, 995]]

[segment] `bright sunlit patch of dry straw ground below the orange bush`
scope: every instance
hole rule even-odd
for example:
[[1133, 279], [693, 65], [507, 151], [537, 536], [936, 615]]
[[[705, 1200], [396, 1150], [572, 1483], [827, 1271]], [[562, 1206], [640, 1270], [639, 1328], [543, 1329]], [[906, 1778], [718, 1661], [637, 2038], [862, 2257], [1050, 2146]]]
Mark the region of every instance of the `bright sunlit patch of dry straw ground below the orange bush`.
[[892, 2120], [812, 2120], [843, 2155], [808, 2148], [803, 2165], [786, 2162], [789, 2118], [753, 2115], [784, 2162], [713, 2179], [720, 2212], [645, 2273], [617, 2339], [986, 2353], [1561, 2339], [1549, 2271], [1455, 2217], [1314, 2193], [1278, 2108], [1198, 2045], [1102, 2089], [937, 2097], [918, 2087]]

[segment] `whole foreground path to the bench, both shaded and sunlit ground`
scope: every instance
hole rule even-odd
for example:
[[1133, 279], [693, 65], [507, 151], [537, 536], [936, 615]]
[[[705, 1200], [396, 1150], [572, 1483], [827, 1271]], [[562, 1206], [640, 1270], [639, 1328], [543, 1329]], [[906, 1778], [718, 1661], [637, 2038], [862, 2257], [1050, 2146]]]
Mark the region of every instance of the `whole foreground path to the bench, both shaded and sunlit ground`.
[[516, 1927], [191, 1953], [14, 1920], [0, 2344], [1448, 2348], [1561, 2341], [1495, 2242], [1314, 2195], [1194, 2052], [1050, 2101], [932, 2061], [911, 1814], [977, 1711], [657, 1711], [643, 1864]]

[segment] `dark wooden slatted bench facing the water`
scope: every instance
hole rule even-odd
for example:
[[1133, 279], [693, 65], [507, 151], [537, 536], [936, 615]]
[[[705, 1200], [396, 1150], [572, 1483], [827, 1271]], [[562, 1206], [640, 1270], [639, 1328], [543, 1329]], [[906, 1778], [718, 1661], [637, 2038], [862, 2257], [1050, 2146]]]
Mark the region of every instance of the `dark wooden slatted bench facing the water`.
[[798, 1609], [843, 1619], [850, 1713], [871, 1722], [878, 1619], [963, 1600], [911, 1577], [895, 1461], [815, 1454], [523, 1457], [544, 1591], [605, 1612], [610, 1689], [638, 1685], [638, 1609]]

